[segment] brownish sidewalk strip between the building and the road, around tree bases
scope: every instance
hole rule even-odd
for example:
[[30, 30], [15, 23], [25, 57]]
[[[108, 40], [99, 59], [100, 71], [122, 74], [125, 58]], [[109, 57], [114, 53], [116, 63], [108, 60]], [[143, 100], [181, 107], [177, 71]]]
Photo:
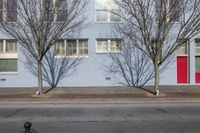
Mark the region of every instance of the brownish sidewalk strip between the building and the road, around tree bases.
[[200, 86], [160, 86], [155, 96], [152, 86], [144, 90], [131, 87], [65, 87], [55, 88], [45, 96], [36, 96], [36, 88], [0, 88], [0, 102], [5, 101], [159, 101], [198, 100]]

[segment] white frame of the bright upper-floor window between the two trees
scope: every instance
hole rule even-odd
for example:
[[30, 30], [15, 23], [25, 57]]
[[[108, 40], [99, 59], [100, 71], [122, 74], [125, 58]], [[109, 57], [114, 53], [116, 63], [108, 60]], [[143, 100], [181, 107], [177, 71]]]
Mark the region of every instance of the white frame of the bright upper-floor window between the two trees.
[[[112, 3], [111, 1], [113, 0], [106, 0], [106, 5], [105, 5], [105, 9], [97, 9], [97, 0], [95, 0], [95, 22], [96, 23], [121, 23], [122, 22], [122, 18], [120, 18], [120, 21], [111, 21], [111, 15], [112, 13], [110, 11], [112, 11]], [[119, 7], [120, 8], [120, 7]], [[118, 9], [119, 11], [121, 11], [121, 8]], [[105, 11], [107, 13], [107, 20], [106, 21], [97, 21], [97, 12], [98, 11]], [[114, 10], [115, 11], [115, 10]]]

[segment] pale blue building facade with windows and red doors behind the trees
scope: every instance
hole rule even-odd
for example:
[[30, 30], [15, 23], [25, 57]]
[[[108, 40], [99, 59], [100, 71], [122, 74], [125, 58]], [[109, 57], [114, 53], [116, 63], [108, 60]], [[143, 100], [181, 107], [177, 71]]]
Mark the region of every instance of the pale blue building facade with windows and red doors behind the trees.
[[[5, 0], [1, 0], [5, 1]], [[10, 0], [7, 0], [7, 2]], [[101, 6], [102, 0], [89, 0], [87, 25], [81, 31], [78, 39], [62, 39], [59, 41], [59, 54], [82, 56], [84, 59], [77, 71], [65, 78], [58, 86], [120, 86], [116, 77], [106, 73], [103, 63], [107, 60], [108, 52], [117, 53], [123, 48], [122, 39], [112, 34], [112, 25], [121, 23], [121, 19]], [[111, 2], [104, 5], [111, 6]], [[10, 15], [16, 9], [7, 6], [7, 15], [0, 5], [0, 20], [14, 21]], [[115, 7], [116, 8], [116, 7]], [[117, 8], [115, 10], [118, 10]], [[10, 13], [10, 14], [9, 14]], [[16, 14], [17, 15], [17, 14]], [[17, 40], [10, 39], [4, 33], [0, 35], [0, 88], [1, 87], [36, 87], [37, 78], [27, 70], [23, 63], [22, 47]], [[200, 39], [188, 41], [174, 54], [172, 63], [161, 74], [161, 85], [198, 85], [200, 83]], [[149, 84], [153, 84], [150, 82]], [[47, 84], [46, 84], [47, 85]]]

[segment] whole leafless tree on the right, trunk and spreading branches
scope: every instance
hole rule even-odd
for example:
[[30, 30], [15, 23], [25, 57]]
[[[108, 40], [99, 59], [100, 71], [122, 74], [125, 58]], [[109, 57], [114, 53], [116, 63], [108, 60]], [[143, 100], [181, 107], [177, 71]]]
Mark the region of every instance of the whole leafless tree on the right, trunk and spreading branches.
[[161, 66], [200, 31], [199, 0], [114, 0], [122, 18], [116, 30], [152, 61], [159, 95]]

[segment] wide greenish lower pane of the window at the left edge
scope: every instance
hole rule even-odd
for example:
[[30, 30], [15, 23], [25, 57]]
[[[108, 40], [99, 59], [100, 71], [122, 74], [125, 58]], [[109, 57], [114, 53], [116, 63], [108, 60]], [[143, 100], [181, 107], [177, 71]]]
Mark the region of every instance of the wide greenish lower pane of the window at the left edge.
[[17, 59], [0, 59], [0, 72], [17, 72]]

